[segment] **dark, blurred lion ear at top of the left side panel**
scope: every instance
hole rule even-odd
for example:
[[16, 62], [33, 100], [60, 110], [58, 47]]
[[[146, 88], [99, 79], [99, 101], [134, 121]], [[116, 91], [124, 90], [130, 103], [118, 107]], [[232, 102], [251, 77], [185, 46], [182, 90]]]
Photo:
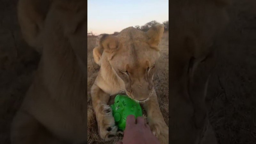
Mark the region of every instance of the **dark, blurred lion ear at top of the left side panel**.
[[41, 30], [52, 0], [19, 0], [18, 20], [25, 41], [41, 52]]

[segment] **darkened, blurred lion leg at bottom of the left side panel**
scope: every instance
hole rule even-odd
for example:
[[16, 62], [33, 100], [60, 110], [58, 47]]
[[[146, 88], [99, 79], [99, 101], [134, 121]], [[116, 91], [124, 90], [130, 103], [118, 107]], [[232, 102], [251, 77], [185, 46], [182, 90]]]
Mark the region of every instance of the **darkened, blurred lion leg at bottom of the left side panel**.
[[64, 144], [24, 111], [18, 111], [13, 119], [11, 141], [12, 144]]

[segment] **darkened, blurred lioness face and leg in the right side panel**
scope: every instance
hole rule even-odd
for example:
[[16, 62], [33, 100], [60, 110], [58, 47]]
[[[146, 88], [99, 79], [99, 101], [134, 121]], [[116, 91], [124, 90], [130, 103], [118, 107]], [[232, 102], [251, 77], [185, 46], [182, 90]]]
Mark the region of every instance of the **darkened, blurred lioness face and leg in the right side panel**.
[[[171, 143], [217, 144], [205, 95], [212, 69], [202, 69], [226, 26], [228, 0], [170, 1], [169, 127]], [[207, 60], [207, 59], [206, 59]], [[211, 60], [211, 59], [209, 59]], [[211, 61], [207, 60], [207, 64]]]

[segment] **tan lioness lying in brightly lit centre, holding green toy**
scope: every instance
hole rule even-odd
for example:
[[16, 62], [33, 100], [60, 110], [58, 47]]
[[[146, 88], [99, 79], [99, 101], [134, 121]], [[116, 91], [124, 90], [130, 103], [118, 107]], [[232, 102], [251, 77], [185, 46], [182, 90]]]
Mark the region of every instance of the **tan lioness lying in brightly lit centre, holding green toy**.
[[91, 88], [92, 106], [103, 140], [113, 139], [117, 132], [112, 110], [107, 105], [109, 97], [125, 92], [146, 109], [149, 126], [161, 143], [169, 143], [168, 126], [160, 111], [152, 81], [163, 33], [162, 24], [151, 27], [147, 32], [129, 27], [117, 36], [103, 35], [99, 47], [93, 49], [93, 57], [100, 70]]

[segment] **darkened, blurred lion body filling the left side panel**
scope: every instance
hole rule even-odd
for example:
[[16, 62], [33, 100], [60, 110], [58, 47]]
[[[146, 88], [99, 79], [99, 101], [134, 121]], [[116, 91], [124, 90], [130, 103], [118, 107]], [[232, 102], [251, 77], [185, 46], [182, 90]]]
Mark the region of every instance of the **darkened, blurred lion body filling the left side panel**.
[[[86, 143], [86, 3], [19, 1], [22, 33], [28, 44], [42, 47], [42, 56], [12, 122], [13, 144]], [[42, 5], [49, 5], [47, 15]]]

